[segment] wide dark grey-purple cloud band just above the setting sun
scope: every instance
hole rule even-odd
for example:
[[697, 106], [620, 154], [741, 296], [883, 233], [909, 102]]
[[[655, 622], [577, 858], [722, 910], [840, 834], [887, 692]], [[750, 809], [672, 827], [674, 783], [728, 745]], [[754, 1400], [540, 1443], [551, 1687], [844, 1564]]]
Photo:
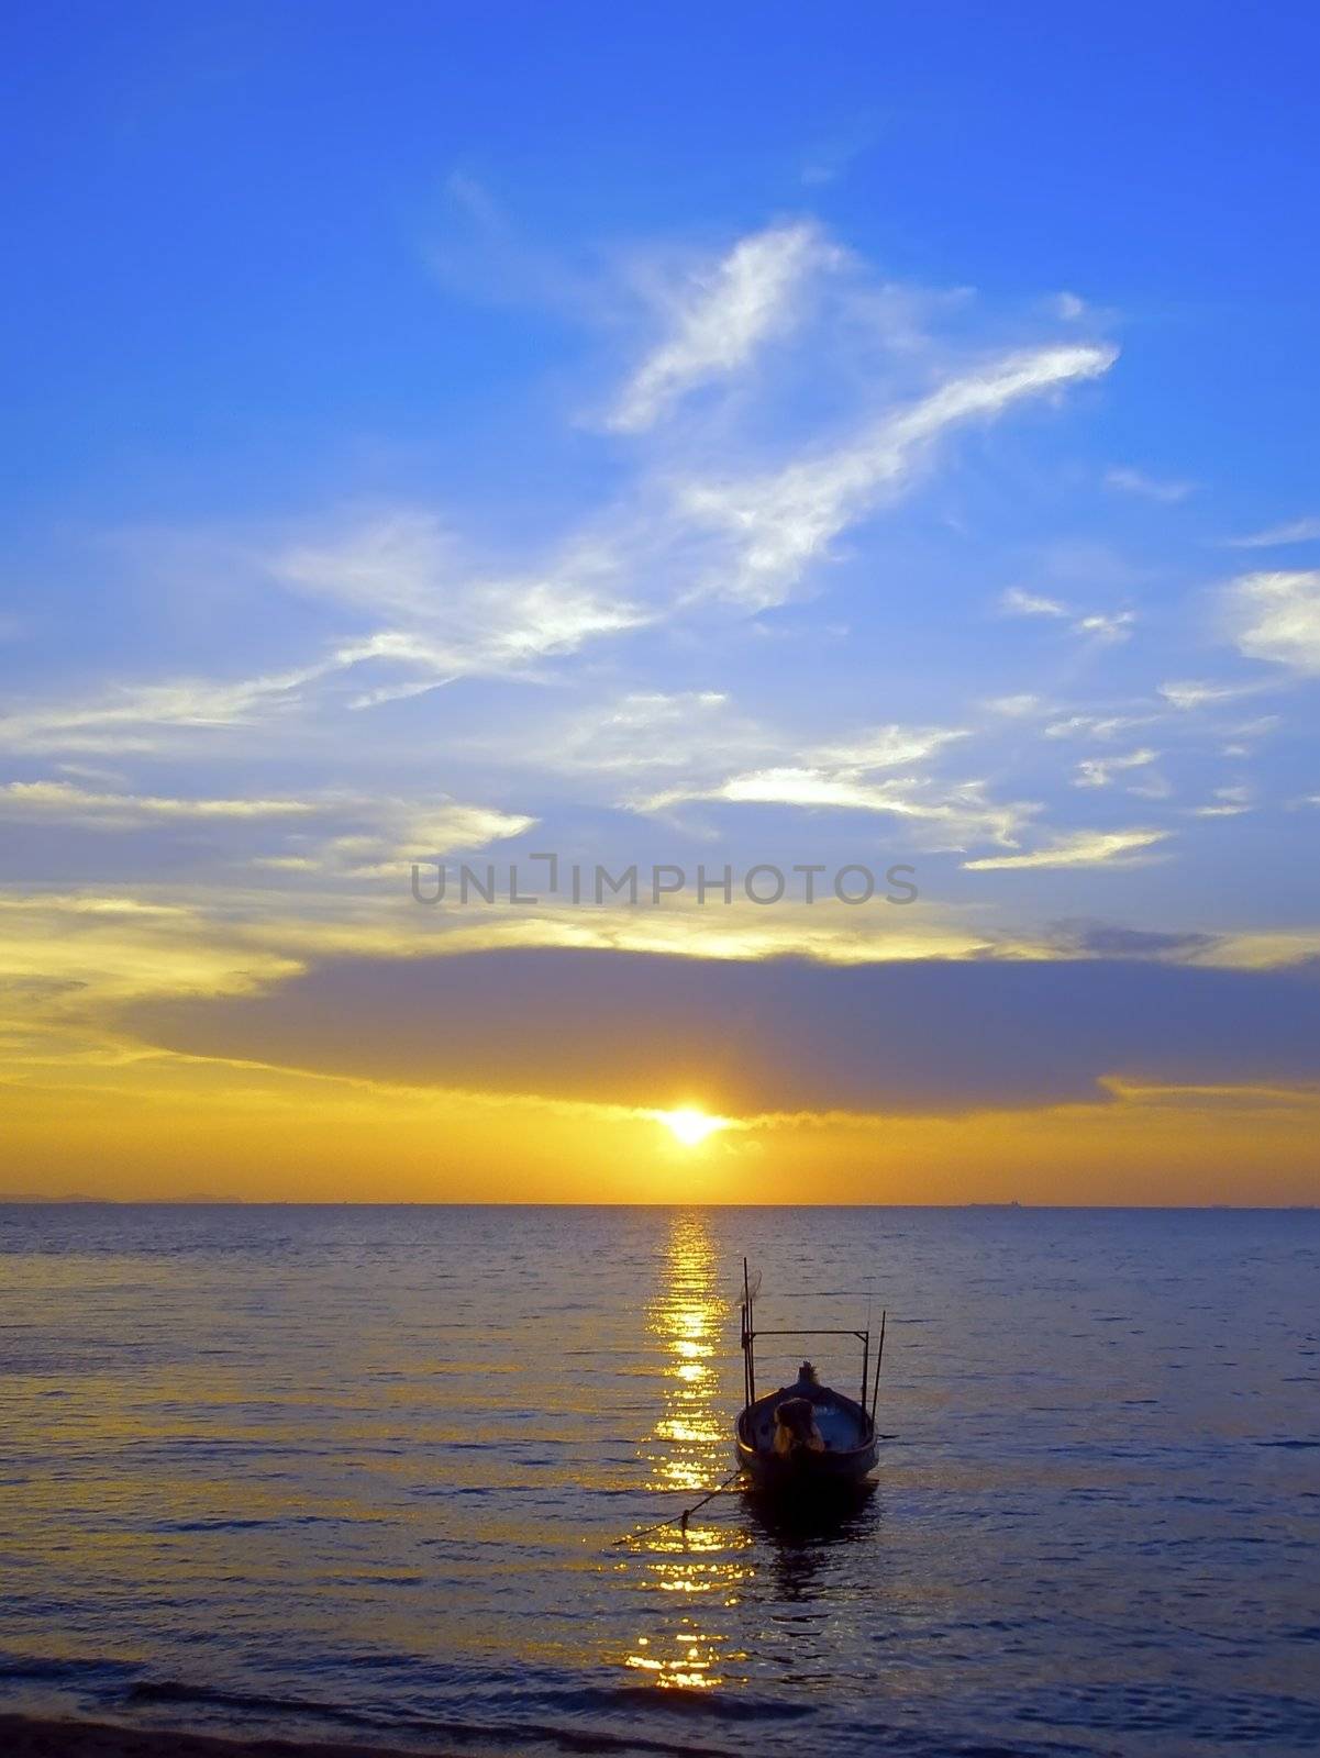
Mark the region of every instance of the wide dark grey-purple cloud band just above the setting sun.
[[1320, 1079], [1320, 981], [1135, 960], [819, 965], [501, 949], [341, 958], [139, 1006], [149, 1042], [378, 1081], [731, 1113], [960, 1113]]

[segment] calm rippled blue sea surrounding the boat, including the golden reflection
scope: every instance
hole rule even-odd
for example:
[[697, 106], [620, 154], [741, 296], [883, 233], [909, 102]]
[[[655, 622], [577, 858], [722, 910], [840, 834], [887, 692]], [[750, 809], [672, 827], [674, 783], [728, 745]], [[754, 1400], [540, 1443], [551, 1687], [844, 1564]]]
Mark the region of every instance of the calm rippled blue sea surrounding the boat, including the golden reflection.
[[[743, 1252], [759, 1324], [888, 1306], [877, 1489], [631, 1536], [729, 1471]], [[0, 1290], [9, 1707], [461, 1751], [1320, 1744], [1318, 1213], [12, 1206]]]

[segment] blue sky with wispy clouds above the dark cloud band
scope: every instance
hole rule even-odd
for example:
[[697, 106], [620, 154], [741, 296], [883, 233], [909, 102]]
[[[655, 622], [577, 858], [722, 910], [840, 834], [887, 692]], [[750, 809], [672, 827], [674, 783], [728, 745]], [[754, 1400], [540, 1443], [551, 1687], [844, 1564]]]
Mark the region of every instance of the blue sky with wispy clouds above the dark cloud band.
[[[18, 19], [0, 816], [58, 1055], [445, 935], [1320, 953], [1318, 39], [1301, 5]], [[547, 846], [909, 861], [921, 900], [406, 897], [415, 858]]]

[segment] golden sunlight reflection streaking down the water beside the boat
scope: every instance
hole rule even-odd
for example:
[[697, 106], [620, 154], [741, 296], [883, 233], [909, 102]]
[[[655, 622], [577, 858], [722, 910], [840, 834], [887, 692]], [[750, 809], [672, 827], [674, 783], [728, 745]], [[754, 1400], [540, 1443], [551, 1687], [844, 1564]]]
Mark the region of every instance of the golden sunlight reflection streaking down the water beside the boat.
[[[729, 1473], [729, 1410], [719, 1384], [721, 1331], [729, 1303], [717, 1287], [719, 1260], [700, 1211], [673, 1217], [664, 1257], [664, 1285], [652, 1301], [647, 1329], [664, 1361], [663, 1410], [649, 1440], [650, 1489], [678, 1500], [677, 1512], [714, 1489]], [[645, 1565], [638, 1589], [666, 1595], [675, 1605], [640, 1633], [624, 1665], [668, 1689], [712, 1689], [726, 1682], [728, 1637], [708, 1628], [701, 1607], [717, 1596], [736, 1605], [751, 1579], [751, 1535], [735, 1524], [691, 1524], [684, 1535], [666, 1526], [640, 1540]], [[682, 1607], [678, 1610], [677, 1607]]]

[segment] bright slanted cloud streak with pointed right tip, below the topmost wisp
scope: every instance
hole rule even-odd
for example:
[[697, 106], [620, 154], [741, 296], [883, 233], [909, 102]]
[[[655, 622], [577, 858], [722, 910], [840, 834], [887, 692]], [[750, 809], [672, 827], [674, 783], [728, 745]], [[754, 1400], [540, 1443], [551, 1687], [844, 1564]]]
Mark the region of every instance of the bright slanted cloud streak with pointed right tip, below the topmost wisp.
[[1097, 378], [1116, 359], [1116, 348], [1083, 345], [1014, 353], [949, 380], [821, 457], [752, 480], [689, 483], [678, 494], [680, 515], [729, 541], [701, 591], [754, 610], [782, 603], [831, 538], [874, 512], [947, 429]]

